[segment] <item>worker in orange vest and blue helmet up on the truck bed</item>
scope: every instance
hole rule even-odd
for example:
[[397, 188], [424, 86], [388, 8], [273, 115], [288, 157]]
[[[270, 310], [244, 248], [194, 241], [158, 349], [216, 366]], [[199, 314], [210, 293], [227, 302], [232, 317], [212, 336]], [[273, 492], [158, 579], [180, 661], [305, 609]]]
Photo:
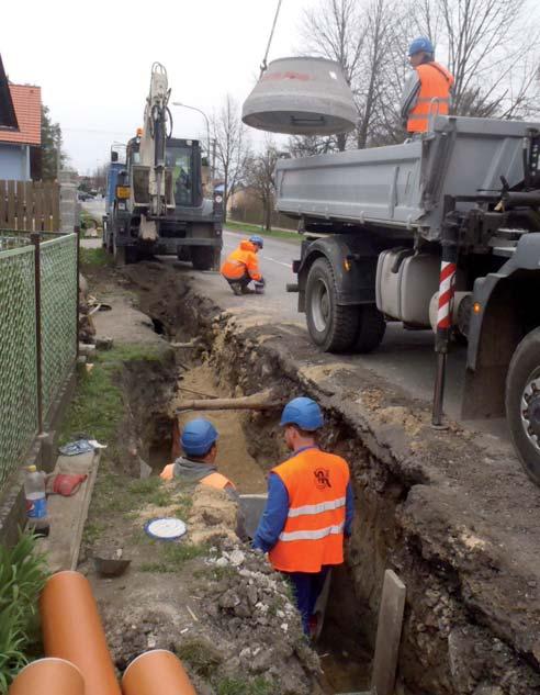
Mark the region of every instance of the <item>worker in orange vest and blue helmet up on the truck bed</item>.
[[434, 44], [425, 36], [413, 41], [408, 59], [414, 71], [403, 90], [401, 113], [404, 127], [414, 135], [427, 132], [431, 113], [448, 114], [453, 77], [435, 61]]

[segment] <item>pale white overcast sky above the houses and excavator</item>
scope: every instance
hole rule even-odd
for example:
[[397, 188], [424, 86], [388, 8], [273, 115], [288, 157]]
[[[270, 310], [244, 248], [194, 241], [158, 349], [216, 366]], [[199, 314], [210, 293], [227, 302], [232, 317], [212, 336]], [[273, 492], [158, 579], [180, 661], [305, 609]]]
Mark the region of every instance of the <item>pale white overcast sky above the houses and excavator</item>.
[[[270, 58], [297, 53], [302, 10], [283, 0]], [[165, 65], [171, 100], [209, 115], [227, 92], [240, 103], [258, 76], [275, 0], [3, 0], [0, 52], [11, 81], [42, 87], [81, 173], [142, 124], [150, 68]], [[175, 134], [199, 137], [204, 119], [172, 109]], [[263, 133], [250, 131], [255, 143]]]

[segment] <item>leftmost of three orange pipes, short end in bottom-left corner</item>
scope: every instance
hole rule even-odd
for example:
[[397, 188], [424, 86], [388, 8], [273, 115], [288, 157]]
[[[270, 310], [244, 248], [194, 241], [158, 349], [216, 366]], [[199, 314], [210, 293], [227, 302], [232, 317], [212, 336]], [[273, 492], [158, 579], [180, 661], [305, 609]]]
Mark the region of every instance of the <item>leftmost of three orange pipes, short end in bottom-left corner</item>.
[[24, 666], [8, 695], [85, 695], [85, 679], [69, 661], [40, 659]]

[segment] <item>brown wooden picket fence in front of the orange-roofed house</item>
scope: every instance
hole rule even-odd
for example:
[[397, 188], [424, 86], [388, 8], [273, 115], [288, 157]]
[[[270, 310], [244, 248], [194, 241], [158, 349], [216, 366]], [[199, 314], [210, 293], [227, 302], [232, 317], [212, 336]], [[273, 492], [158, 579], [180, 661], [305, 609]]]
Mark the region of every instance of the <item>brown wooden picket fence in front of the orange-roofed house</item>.
[[59, 232], [58, 183], [0, 179], [0, 229]]

